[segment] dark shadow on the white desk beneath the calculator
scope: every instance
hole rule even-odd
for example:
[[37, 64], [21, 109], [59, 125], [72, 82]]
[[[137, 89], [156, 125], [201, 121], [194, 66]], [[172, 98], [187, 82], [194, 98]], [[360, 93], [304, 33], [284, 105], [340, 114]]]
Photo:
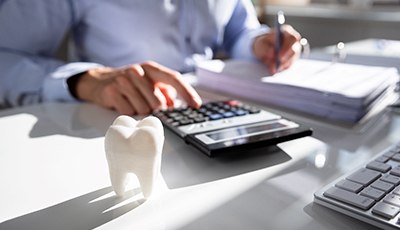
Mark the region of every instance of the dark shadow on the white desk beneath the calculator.
[[170, 189], [242, 175], [292, 159], [275, 145], [210, 158], [169, 130], [165, 139], [161, 172]]

